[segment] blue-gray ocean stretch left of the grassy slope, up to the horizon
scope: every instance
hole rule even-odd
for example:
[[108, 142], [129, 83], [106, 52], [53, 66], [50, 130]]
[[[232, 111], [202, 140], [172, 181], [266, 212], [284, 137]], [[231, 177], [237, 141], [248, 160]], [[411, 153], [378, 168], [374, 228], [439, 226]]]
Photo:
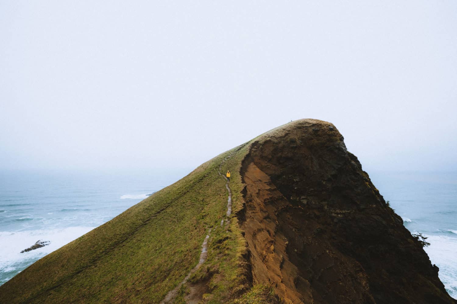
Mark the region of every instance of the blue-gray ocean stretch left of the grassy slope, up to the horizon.
[[0, 285], [189, 172], [0, 171]]

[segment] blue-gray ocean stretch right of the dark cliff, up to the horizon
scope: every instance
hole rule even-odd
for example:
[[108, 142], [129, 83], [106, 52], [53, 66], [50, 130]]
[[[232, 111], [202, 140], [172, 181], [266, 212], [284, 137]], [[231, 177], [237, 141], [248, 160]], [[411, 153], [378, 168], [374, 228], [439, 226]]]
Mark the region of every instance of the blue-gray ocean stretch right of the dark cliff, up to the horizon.
[[368, 172], [373, 184], [425, 247], [447, 292], [457, 299], [457, 172]]

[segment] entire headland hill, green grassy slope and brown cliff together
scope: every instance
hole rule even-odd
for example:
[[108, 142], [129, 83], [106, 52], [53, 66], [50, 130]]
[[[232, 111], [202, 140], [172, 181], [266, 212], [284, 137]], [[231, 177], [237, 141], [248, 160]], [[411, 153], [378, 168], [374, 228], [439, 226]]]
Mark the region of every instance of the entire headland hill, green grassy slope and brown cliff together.
[[437, 273], [335, 126], [303, 119], [40, 259], [0, 303], [456, 303]]

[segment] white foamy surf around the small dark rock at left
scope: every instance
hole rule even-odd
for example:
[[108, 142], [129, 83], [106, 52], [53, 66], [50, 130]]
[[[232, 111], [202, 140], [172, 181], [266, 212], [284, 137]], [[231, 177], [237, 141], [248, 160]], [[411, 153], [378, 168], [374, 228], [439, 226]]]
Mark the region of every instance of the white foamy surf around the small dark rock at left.
[[[0, 232], [0, 239], [2, 240], [2, 246], [0, 246], [0, 273], [22, 270], [37, 259], [43, 258], [48, 253], [57, 250], [94, 228], [68, 227], [53, 230]], [[21, 253], [22, 250], [32, 246], [38, 240], [50, 241], [51, 243], [48, 246]]]

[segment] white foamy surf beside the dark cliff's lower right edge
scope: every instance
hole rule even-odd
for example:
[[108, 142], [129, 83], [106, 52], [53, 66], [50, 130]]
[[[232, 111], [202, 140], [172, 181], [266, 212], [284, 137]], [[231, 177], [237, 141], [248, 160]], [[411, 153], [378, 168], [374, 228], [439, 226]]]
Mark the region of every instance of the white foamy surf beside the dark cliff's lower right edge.
[[446, 287], [447, 292], [454, 299], [457, 298], [457, 263], [455, 254], [457, 252], [457, 238], [444, 235], [427, 235], [429, 247], [425, 251], [430, 257], [432, 264], [440, 268], [439, 277]]

